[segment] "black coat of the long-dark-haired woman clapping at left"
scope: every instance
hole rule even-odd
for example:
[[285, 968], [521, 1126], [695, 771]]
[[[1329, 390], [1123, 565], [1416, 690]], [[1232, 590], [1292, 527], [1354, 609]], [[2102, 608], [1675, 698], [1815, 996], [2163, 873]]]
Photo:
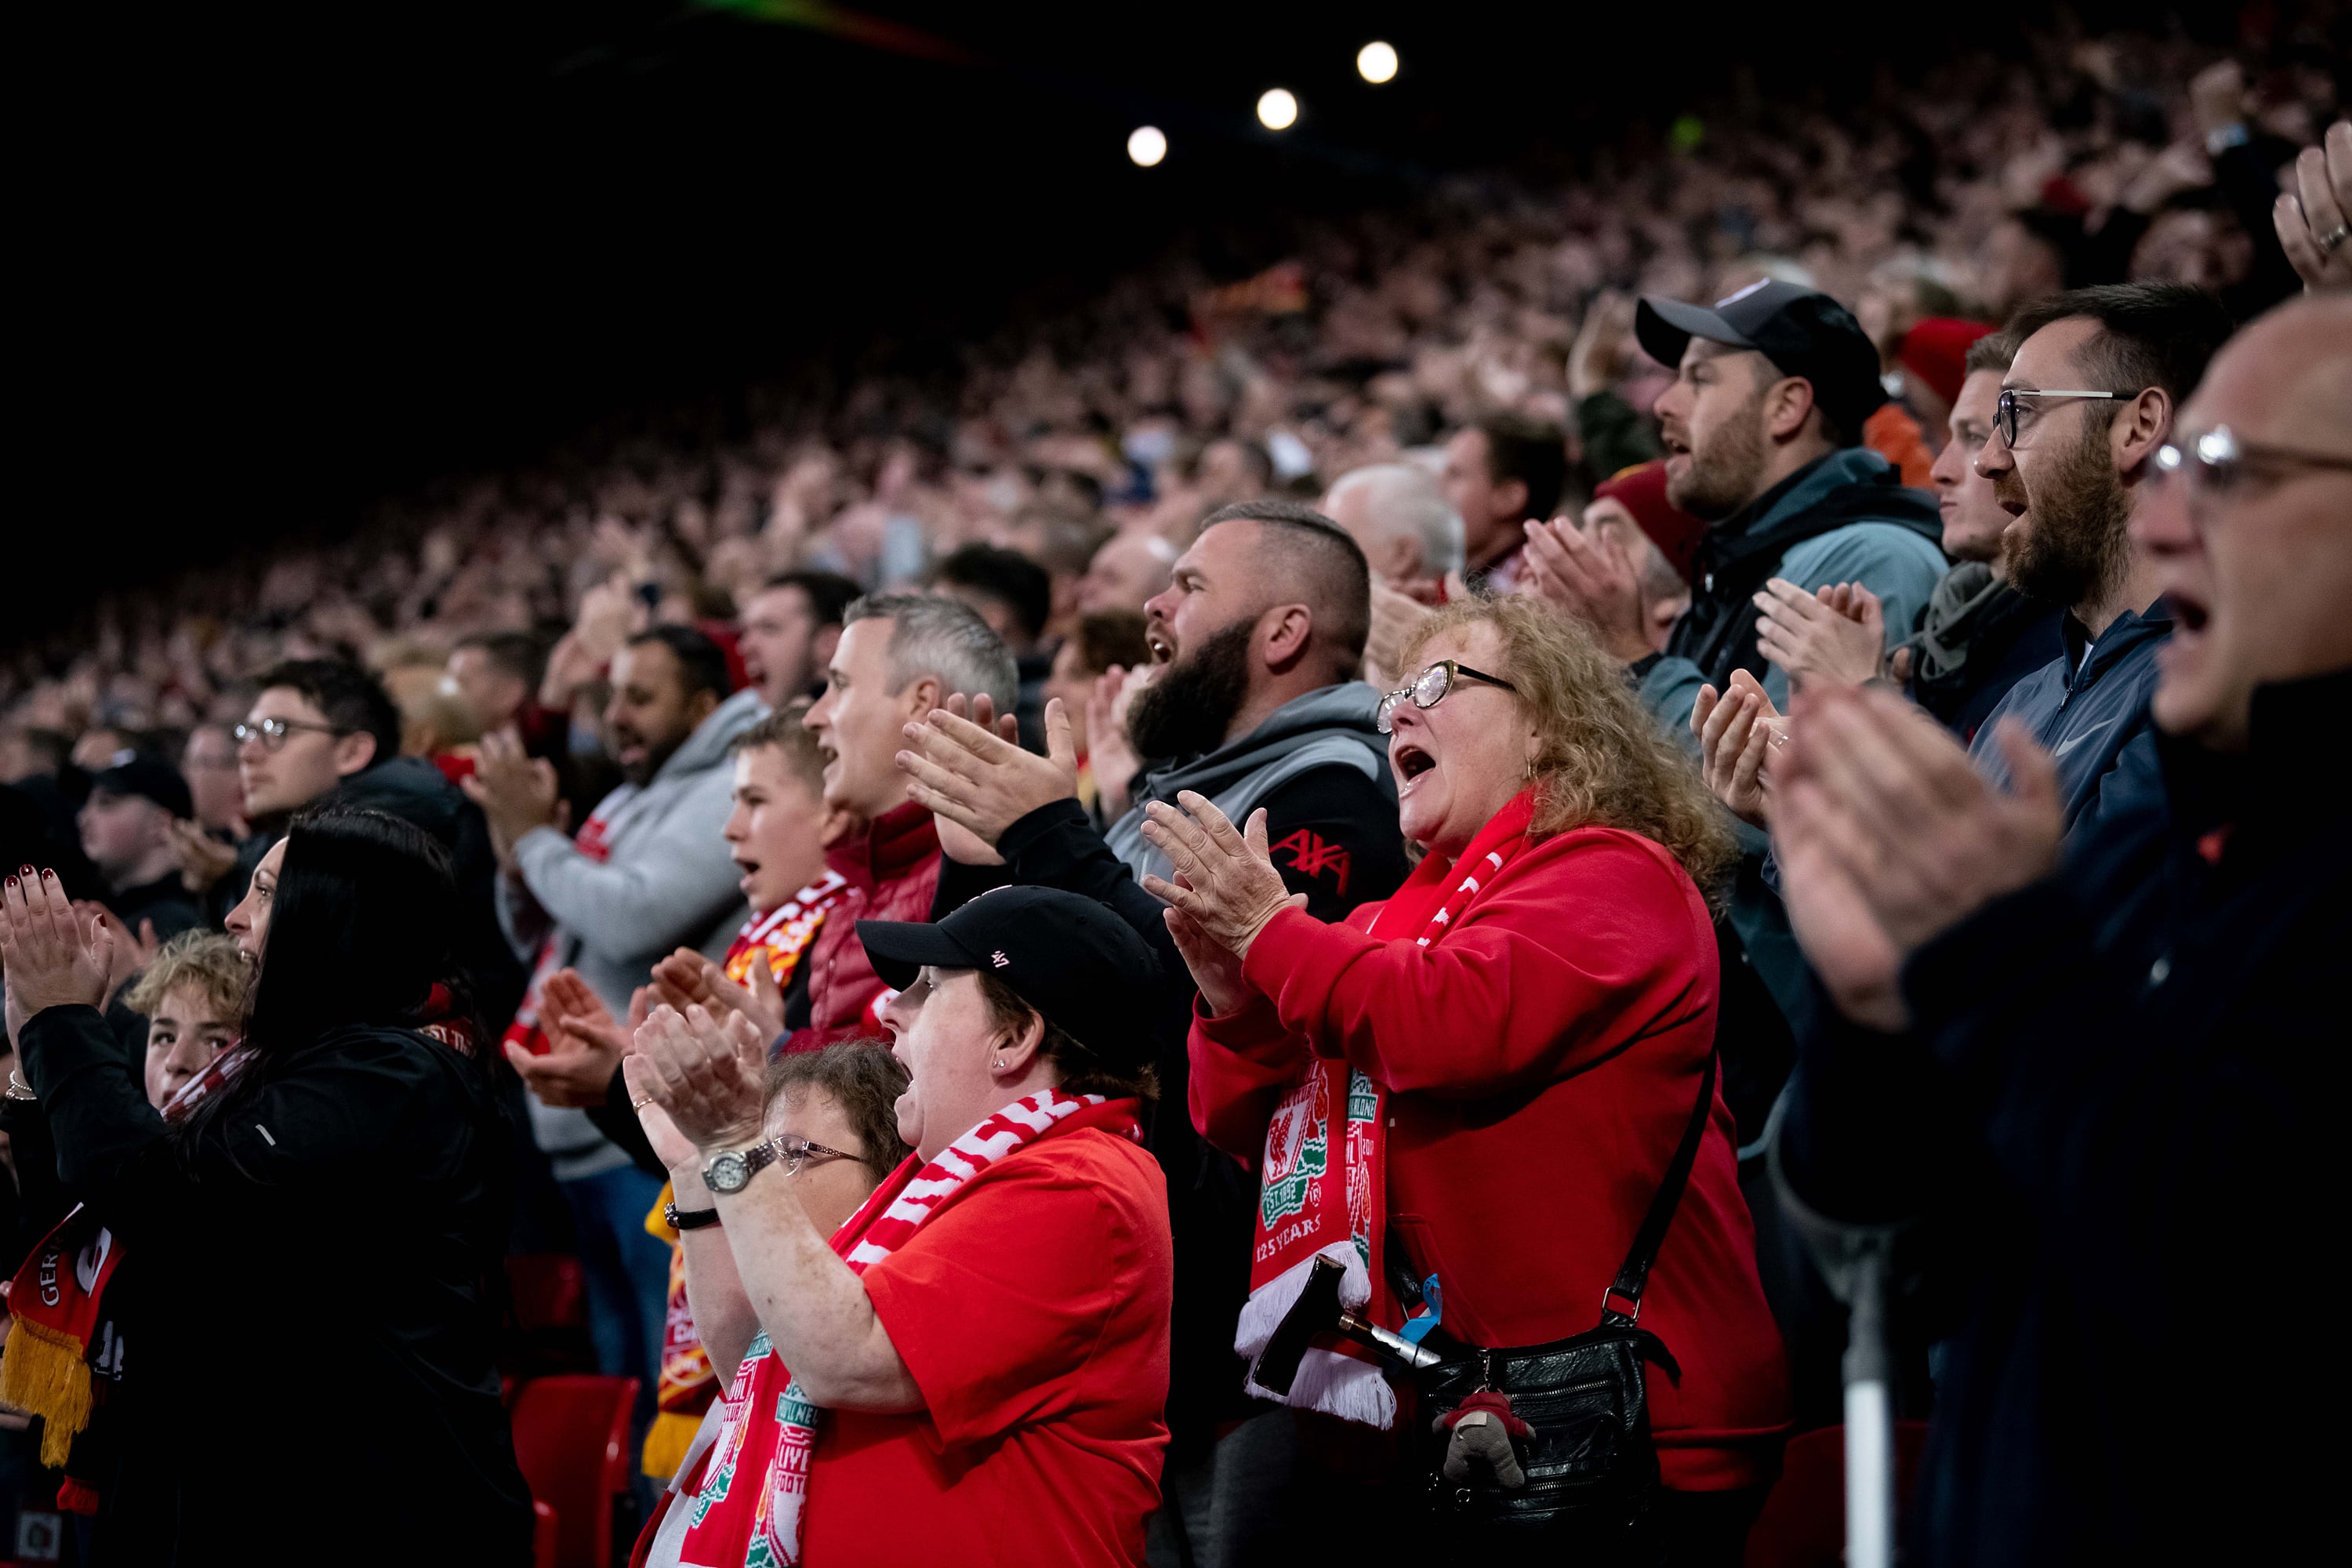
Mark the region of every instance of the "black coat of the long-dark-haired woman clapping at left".
[[21, 1046], [61, 1182], [139, 1267], [96, 1561], [529, 1561], [487, 1079], [423, 1034], [343, 1027], [181, 1143], [96, 1011], [47, 1009]]

